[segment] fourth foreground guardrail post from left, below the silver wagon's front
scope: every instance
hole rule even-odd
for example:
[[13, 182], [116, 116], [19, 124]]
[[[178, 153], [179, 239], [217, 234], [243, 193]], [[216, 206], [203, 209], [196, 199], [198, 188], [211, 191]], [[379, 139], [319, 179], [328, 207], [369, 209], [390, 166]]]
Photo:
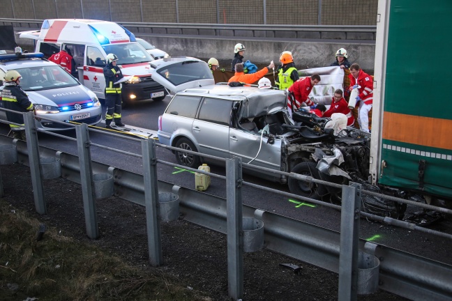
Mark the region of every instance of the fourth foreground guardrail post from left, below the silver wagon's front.
[[242, 172], [238, 157], [226, 159], [227, 287], [233, 300], [243, 298]]

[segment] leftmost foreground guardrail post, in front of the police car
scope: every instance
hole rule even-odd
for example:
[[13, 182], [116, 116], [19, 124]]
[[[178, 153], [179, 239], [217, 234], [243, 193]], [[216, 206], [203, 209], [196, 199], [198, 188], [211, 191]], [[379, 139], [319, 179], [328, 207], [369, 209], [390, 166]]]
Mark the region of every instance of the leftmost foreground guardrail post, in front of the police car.
[[29, 164], [31, 172], [31, 185], [33, 185], [33, 196], [36, 212], [40, 215], [47, 214], [45, 204], [43, 178], [40, 172], [38, 132], [34, 122], [34, 113], [32, 111], [24, 114], [25, 136], [27, 137], [27, 150], [29, 153]]

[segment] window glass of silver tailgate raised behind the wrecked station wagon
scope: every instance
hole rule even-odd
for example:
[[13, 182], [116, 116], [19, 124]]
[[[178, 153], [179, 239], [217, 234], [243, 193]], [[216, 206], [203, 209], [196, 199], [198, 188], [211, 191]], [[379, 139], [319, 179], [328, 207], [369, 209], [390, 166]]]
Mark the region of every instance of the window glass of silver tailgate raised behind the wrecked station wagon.
[[200, 61], [183, 61], [173, 63], [157, 70], [158, 74], [165, 77], [168, 82], [178, 86], [196, 79], [213, 79], [209, 66]]

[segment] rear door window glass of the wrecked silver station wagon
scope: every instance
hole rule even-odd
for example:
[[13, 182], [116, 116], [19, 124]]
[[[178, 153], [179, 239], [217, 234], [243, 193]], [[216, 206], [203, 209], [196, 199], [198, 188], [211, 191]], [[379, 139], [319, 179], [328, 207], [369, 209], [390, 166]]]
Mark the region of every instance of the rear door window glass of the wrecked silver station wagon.
[[199, 120], [229, 125], [231, 120], [232, 101], [217, 98], [204, 98], [199, 110]]

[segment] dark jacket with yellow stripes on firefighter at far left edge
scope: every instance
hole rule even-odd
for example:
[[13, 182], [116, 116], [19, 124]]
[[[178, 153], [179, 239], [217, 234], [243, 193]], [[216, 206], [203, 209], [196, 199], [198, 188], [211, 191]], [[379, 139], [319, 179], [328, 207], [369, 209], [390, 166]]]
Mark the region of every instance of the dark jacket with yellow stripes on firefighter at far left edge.
[[[20, 86], [16, 86], [13, 83], [3, 82], [5, 88], [1, 91], [1, 101], [5, 109], [13, 111], [27, 112], [33, 111], [33, 104], [28, 98]], [[6, 111], [6, 118], [13, 123], [24, 124], [24, 116], [22, 114], [16, 114], [10, 111]], [[10, 125], [11, 128], [17, 128], [17, 125]]]

